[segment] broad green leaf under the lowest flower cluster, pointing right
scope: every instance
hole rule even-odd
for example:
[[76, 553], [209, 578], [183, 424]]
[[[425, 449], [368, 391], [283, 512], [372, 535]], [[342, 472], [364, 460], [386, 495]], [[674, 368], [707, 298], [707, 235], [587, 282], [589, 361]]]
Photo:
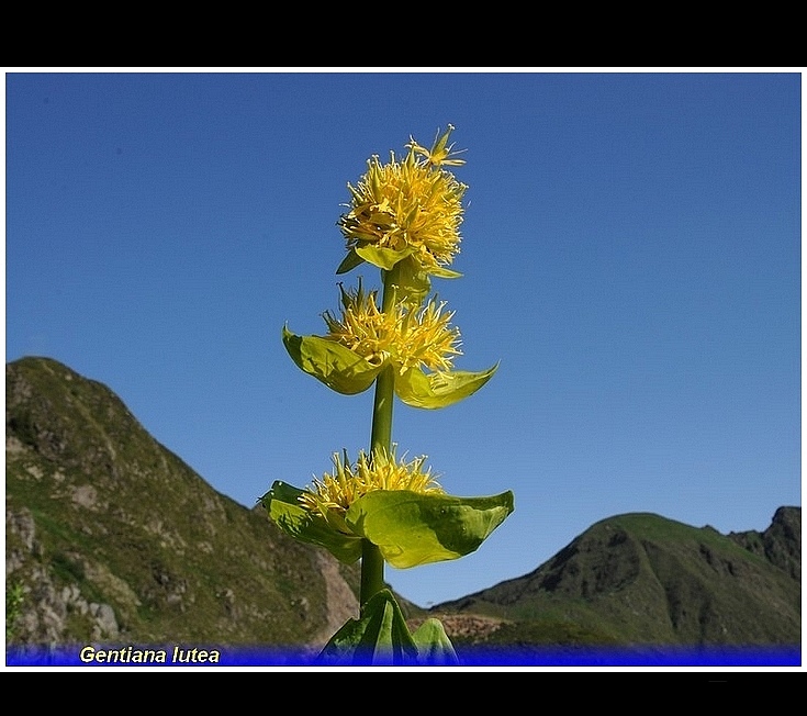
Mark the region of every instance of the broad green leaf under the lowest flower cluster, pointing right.
[[379, 490], [350, 505], [345, 522], [354, 534], [377, 545], [390, 564], [406, 569], [475, 551], [513, 508], [509, 491], [456, 497]]

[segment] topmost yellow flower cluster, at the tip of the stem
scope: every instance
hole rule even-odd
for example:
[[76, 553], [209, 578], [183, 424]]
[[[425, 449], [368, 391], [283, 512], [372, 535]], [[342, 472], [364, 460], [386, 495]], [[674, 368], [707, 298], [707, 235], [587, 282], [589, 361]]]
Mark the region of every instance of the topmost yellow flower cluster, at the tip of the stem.
[[339, 220], [348, 250], [365, 246], [412, 251], [426, 272], [449, 265], [459, 253], [462, 197], [468, 189], [442, 166], [464, 164], [447, 146], [448, 131], [426, 149], [414, 139], [402, 160], [378, 156], [351, 193], [350, 211]]

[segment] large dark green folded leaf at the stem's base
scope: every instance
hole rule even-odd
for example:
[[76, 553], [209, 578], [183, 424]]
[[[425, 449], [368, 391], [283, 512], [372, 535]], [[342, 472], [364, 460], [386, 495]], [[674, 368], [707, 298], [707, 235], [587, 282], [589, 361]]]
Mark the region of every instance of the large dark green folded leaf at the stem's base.
[[325, 645], [317, 663], [326, 665], [416, 664], [418, 650], [401, 607], [390, 590], [381, 590]]

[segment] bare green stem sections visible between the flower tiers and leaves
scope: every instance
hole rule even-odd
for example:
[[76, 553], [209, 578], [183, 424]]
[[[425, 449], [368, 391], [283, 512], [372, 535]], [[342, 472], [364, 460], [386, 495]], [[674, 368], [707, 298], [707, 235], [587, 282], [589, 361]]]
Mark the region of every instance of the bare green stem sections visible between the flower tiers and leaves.
[[[395, 305], [395, 278], [393, 271], [382, 272], [384, 291], [381, 310], [392, 311]], [[377, 450], [390, 452], [392, 447], [392, 403], [395, 398], [395, 369], [384, 368], [376, 379], [376, 398], [372, 405], [372, 432], [370, 434], [370, 454]], [[361, 545], [361, 593], [360, 602], [365, 604], [371, 596], [384, 589], [384, 558], [379, 548], [365, 539]]]

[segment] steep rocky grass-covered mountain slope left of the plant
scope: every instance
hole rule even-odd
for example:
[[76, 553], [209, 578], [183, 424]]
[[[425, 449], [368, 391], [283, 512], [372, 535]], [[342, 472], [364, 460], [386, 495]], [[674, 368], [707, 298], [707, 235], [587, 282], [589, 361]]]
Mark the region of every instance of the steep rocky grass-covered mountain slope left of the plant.
[[5, 367], [13, 644], [322, 646], [358, 614], [345, 568], [213, 490], [105, 385]]

